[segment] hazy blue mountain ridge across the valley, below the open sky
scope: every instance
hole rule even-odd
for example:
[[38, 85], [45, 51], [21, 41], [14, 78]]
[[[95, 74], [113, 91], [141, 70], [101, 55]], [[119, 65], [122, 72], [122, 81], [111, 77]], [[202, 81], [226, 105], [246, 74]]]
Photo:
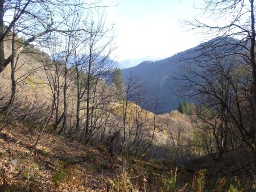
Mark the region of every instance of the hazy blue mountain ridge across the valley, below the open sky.
[[174, 80], [174, 76], [179, 73], [181, 66], [187, 64], [189, 58], [197, 57], [197, 60], [203, 59], [199, 49], [203, 48], [204, 51], [208, 51], [209, 45], [221, 44], [218, 49], [237, 51], [236, 48], [230, 48], [230, 41], [233, 44], [241, 43], [241, 41], [232, 39], [230, 37], [224, 39], [222, 37], [216, 37], [206, 43], [202, 43], [199, 46], [188, 49], [187, 51], [177, 53], [167, 59], [158, 61], [144, 61], [139, 65], [122, 69], [124, 79], [129, 77], [129, 73], [132, 71], [142, 78], [145, 84], [145, 89], [148, 92], [149, 105], [152, 106], [155, 95], [162, 100], [162, 109], [159, 112], [170, 112], [177, 109], [179, 102], [182, 98], [177, 97], [177, 82]]

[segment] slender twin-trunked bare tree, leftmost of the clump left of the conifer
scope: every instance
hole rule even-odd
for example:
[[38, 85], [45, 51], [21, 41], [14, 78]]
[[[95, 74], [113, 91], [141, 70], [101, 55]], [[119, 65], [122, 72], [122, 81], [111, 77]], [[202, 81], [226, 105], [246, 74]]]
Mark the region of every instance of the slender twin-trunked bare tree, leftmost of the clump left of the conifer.
[[[74, 23], [75, 24], [75, 23]], [[69, 66], [72, 53], [77, 47], [77, 41], [74, 40], [75, 34], [68, 34], [65, 36], [59, 35], [54, 39], [55, 45], [50, 49], [52, 57], [52, 67], [45, 67], [48, 85], [52, 92], [52, 105], [55, 110], [55, 124], [54, 129], [57, 130], [59, 125], [59, 134], [65, 131], [68, 114], [68, 89], [73, 84], [73, 77], [75, 73], [72, 67]], [[60, 105], [63, 104], [63, 107]], [[60, 108], [62, 111], [60, 111]]]

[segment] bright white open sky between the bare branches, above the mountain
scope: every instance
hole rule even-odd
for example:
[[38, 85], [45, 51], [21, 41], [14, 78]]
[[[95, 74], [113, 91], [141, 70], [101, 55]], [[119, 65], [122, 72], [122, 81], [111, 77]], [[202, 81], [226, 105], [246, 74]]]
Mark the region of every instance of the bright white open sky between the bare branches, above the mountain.
[[196, 15], [193, 0], [108, 0], [107, 19], [115, 23], [117, 60], [164, 58], [195, 47], [200, 37], [186, 31], [179, 19]]

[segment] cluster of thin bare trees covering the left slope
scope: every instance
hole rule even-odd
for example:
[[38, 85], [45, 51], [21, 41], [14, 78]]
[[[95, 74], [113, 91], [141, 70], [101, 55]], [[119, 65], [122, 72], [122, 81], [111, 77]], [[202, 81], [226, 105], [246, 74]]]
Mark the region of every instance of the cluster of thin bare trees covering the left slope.
[[[0, 131], [18, 120], [40, 135], [51, 131], [108, 145], [111, 155], [117, 145], [144, 156], [154, 140], [156, 115], [136, 105], [144, 94], [139, 78], [131, 73], [124, 86], [109, 59], [114, 45], [106, 6], [1, 3]], [[5, 20], [7, 12], [11, 22]]]

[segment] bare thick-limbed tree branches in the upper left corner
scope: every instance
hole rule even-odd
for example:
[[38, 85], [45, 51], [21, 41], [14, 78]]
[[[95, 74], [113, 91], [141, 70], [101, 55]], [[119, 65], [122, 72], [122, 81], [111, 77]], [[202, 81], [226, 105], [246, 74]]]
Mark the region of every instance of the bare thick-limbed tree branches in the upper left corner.
[[[52, 33], [86, 32], [85, 28], [68, 28], [65, 21], [73, 15], [84, 15], [89, 7], [95, 7], [96, 3], [86, 3], [79, 0], [16, 0], [0, 1], [0, 73], [27, 45], [37, 41], [43, 44]], [[100, 6], [100, 5], [98, 5]], [[79, 11], [77, 11], [79, 10]], [[72, 12], [73, 11], [73, 12]], [[13, 15], [12, 20], [7, 20], [7, 15]], [[85, 18], [84, 18], [85, 19]], [[79, 20], [80, 23], [83, 19]], [[14, 27], [15, 26], [15, 27]], [[22, 37], [22, 46], [16, 49], [10, 56], [5, 58], [4, 41], [10, 36], [11, 31]], [[47, 44], [46, 43], [46, 44]]]

